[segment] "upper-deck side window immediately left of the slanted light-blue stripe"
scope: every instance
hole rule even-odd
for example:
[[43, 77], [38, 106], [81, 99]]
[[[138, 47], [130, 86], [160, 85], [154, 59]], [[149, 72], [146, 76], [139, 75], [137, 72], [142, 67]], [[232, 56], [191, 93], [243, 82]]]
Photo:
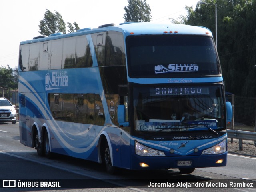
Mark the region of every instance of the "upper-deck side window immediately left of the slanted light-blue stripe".
[[86, 36], [76, 37], [76, 68], [91, 67], [92, 54]]

